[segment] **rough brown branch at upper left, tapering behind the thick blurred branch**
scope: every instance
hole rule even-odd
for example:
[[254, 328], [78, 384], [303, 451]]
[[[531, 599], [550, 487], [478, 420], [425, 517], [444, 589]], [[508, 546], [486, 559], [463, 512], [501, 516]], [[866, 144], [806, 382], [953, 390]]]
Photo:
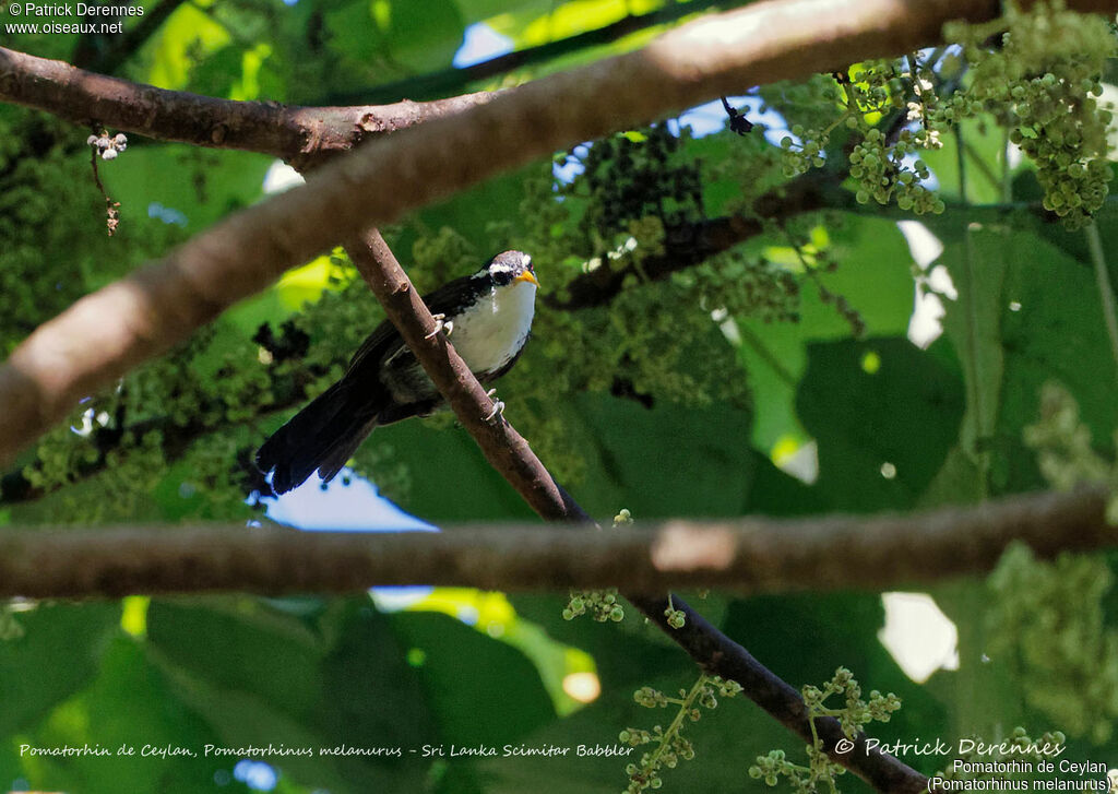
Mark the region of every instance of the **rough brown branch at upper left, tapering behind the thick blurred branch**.
[[0, 101], [82, 126], [106, 124], [161, 141], [241, 149], [296, 162], [304, 155], [349, 151], [366, 136], [459, 113], [498, 95], [482, 92], [352, 107], [235, 102], [107, 77], [0, 47]]

